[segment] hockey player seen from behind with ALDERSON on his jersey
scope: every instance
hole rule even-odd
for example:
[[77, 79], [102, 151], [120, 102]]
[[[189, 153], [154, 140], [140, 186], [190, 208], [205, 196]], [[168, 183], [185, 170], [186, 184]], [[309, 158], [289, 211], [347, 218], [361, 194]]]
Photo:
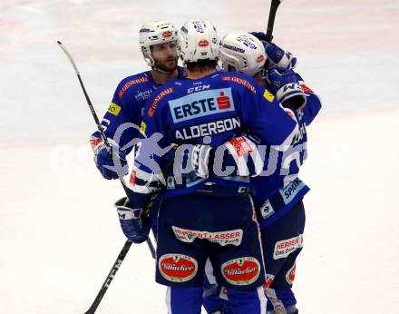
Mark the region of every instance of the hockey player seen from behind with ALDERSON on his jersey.
[[[170, 144], [195, 150], [219, 146], [251, 131], [263, 142], [291, 142], [295, 123], [268, 92], [245, 74], [217, 73], [219, 39], [207, 21], [188, 21], [180, 29], [180, 57], [188, 80], [166, 83], [145, 107], [143, 142], [131, 176], [130, 203], [117, 202], [122, 231], [133, 242], [147, 239], [141, 208], [163, 169]], [[153, 139], [156, 134], [156, 143]], [[194, 148], [192, 147], [194, 145]], [[168, 177], [168, 190], [158, 212], [156, 281], [168, 286], [172, 314], [199, 314], [203, 277], [209, 258], [218, 281], [229, 290], [233, 313], [266, 313], [266, 281], [258, 223], [245, 178], [200, 177], [179, 182]]]

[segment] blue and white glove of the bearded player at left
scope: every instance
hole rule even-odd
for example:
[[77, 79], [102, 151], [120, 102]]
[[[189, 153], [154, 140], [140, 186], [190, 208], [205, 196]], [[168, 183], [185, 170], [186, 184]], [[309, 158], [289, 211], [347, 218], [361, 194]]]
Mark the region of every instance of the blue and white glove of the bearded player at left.
[[116, 144], [112, 143], [112, 146], [108, 148], [104, 142], [98, 142], [93, 147], [93, 152], [94, 162], [105, 179], [118, 179], [129, 173], [126, 155]]

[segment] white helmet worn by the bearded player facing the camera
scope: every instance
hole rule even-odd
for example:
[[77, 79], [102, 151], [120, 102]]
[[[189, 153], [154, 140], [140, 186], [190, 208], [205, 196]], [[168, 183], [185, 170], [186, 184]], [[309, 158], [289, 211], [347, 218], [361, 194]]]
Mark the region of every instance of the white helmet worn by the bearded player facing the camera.
[[174, 25], [167, 21], [145, 23], [140, 28], [139, 41], [145, 62], [148, 65], [153, 66], [155, 62], [151, 54], [151, 45], [173, 41], [176, 41], [176, 43], [179, 44], [178, 31]]

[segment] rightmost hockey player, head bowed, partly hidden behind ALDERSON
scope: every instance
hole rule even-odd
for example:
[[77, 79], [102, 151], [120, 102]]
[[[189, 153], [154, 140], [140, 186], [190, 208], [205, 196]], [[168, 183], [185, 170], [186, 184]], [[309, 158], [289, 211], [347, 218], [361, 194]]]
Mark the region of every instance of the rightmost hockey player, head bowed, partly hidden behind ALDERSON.
[[[262, 33], [256, 34], [264, 36]], [[258, 83], [272, 91], [287, 113], [296, 119], [299, 132], [292, 142], [292, 147], [280, 156], [283, 161], [279, 160], [272, 165], [273, 162], [270, 161], [273, 159], [273, 152], [268, 150], [264, 158], [268, 161], [266, 163], [268, 170], [260, 175], [252, 158], [235, 155], [233, 150], [230, 150], [230, 155], [225, 156], [223, 162], [231, 166], [238, 164], [239, 159], [242, 161], [248, 157], [247, 172], [258, 175], [251, 179], [251, 184], [262, 233], [268, 278], [264, 285], [268, 297], [268, 314], [295, 314], [298, 313], [297, 300], [291, 288], [295, 278], [297, 255], [303, 247], [305, 210], [302, 198], [309, 191], [297, 174], [299, 166], [307, 157], [306, 126], [315, 118], [321, 103], [302, 78], [290, 70], [295, 66], [297, 59], [276, 44], [265, 43], [265, 45], [270, 59], [268, 64], [271, 65], [265, 76], [262, 76], [266, 61], [264, 44], [252, 34], [228, 34], [221, 40], [219, 58], [222, 67], [225, 71], [237, 71], [254, 76]], [[239, 142], [256, 150], [255, 143], [250, 139], [258, 142], [250, 134], [241, 136]], [[273, 167], [276, 172], [270, 172]], [[230, 313], [229, 302], [222, 306], [223, 301], [219, 299], [219, 297], [228, 299], [228, 296], [223, 293], [223, 289], [216, 289], [215, 280], [209, 283], [213, 285], [206, 287], [204, 293], [206, 296], [204, 305], [207, 311]]]

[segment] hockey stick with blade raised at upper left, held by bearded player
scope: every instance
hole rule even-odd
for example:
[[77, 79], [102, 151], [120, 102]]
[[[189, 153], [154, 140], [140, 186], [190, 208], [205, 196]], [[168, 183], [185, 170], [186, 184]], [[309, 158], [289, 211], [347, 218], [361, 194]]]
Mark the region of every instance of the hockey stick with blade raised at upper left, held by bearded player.
[[[90, 109], [90, 112], [92, 113], [92, 117], [94, 119], [94, 122], [97, 124], [97, 129], [100, 132], [100, 134], [102, 135], [102, 141], [104, 142], [105, 146], [107, 147], [108, 152], [111, 153], [110, 142], [108, 142], [108, 139], [105, 136], [105, 133], [104, 133], [104, 131], [102, 129], [102, 124], [100, 123], [100, 120], [98, 119], [97, 113], [95, 113], [94, 107], [92, 106], [92, 101], [90, 100], [90, 97], [87, 94], [86, 89], [84, 88], [84, 84], [83, 84], [83, 81], [82, 81], [81, 74], [79, 73], [78, 67], [74, 63], [72, 55], [68, 52], [68, 50], [63, 45], [63, 43], [61, 43], [60, 41], [57, 41], [57, 44], [59, 44], [60, 48], [63, 49], [63, 52], [66, 54], [66, 56], [68, 57], [69, 61], [73, 65], [73, 69], [75, 70], [75, 73], [78, 76], [79, 83], [81, 84], [81, 87], [82, 87], [82, 90], [83, 90], [83, 93], [84, 93], [84, 97], [86, 98], [86, 102], [89, 105], [89, 109]], [[126, 183], [121, 178], [120, 178], [120, 182], [122, 184], [122, 188], [125, 191], [126, 195], [128, 195], [128, 191], [127, 191], [128, 188], [126, 187]], [[149, 247], [149, 249], [151, 251], [152, 258], [155, 259], [155, 249], [154, 249], [154, 246], [152, 245], [152, 242], [151, 242], [150, 239], [147, 240], [147, 244], [148, 244], [148, 247]]]

